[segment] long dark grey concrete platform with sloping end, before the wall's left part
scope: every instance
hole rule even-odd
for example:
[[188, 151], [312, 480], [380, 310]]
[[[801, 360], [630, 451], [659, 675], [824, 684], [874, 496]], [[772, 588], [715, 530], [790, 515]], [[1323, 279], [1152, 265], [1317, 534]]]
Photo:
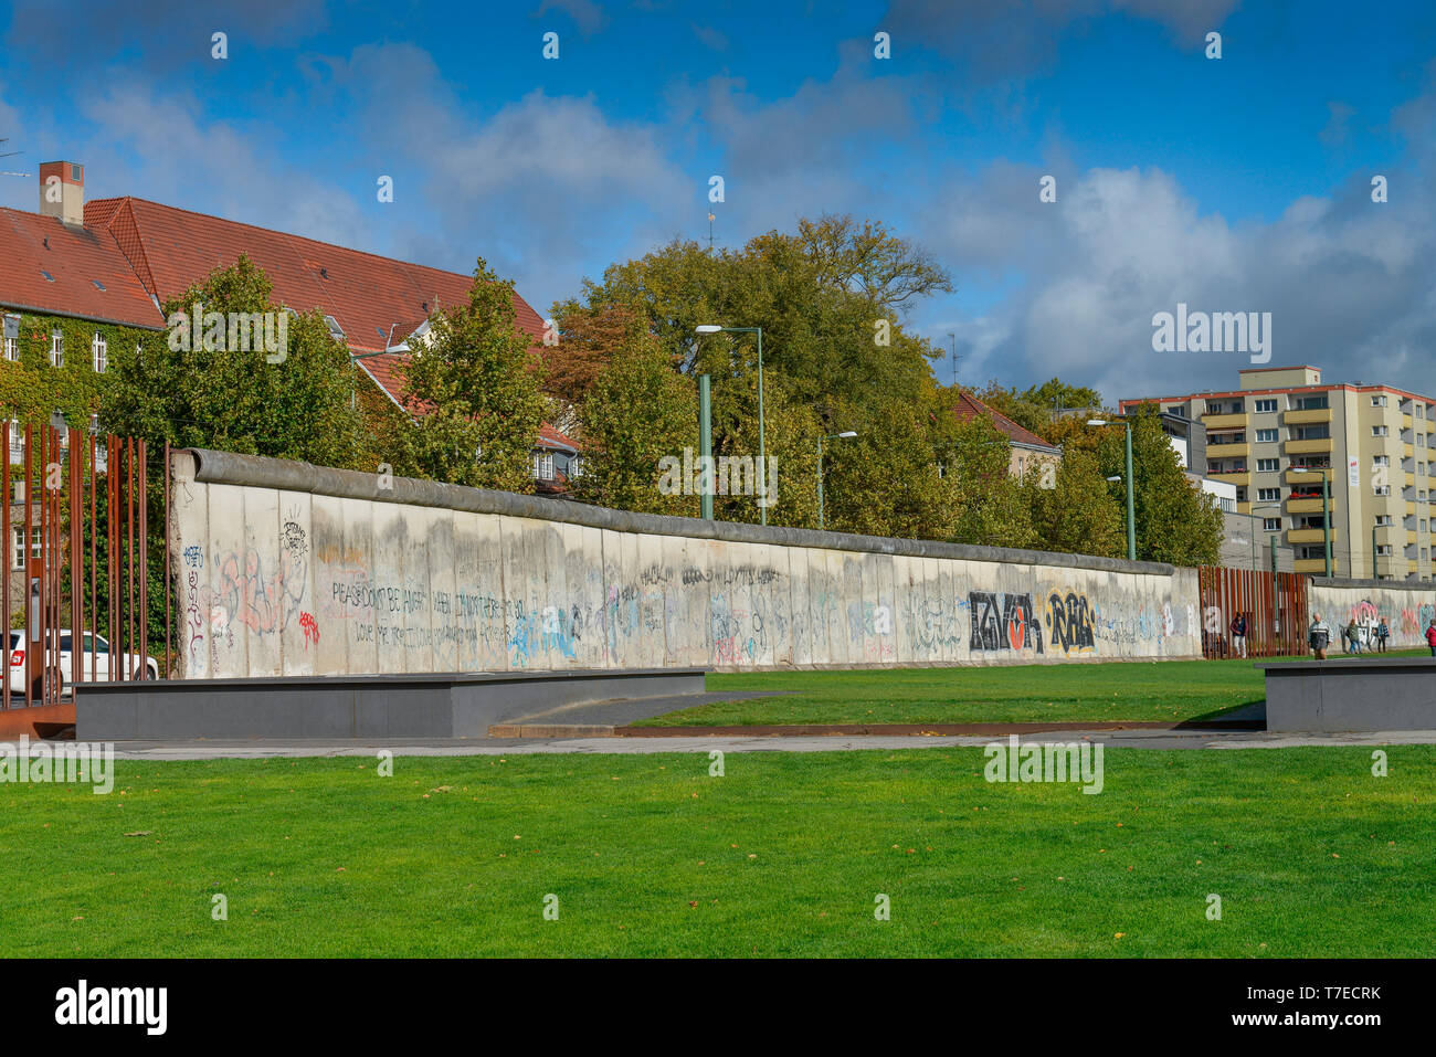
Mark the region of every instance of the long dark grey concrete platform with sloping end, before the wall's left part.
[[[699, 695], [705, 671], [640, 668], [96, 682], [83, 684], [76, 694], [75, 737], [80, 741], [481, 738], [493, 724], [564, 705], [617, 705]], [[589, 714], [600, 715], [602, 711], [596, 707]], [[620, 722], [630, 715], [630, 709], [615, 708]]]

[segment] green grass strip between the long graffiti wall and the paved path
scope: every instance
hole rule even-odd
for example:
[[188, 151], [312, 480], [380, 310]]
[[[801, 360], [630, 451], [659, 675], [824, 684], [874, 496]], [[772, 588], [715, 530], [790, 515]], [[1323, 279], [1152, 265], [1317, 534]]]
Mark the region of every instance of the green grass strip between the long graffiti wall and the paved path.
[[[1404, 651], [1383, 656], [1406, 656]], [[1272, 658], [1277, 659], [1277, 658]], [[642, 727], [821, 722], [1038, 722], [1215, 720], [1264, 701], [1252, 661], [1146, 661], [847, 672], [737, 672], [709, 691], [791, 691], [645, 720]]]

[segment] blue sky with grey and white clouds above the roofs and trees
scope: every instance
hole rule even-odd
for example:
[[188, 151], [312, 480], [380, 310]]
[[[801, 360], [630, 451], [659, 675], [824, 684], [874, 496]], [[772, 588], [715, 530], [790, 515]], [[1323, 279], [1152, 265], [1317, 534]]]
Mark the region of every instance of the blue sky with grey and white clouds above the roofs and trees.
[[[718, 174], [719, 244], [827, 211], [926, 248], [956, 290], [906, 322], [956, 333], [969, 383], [1235, 385], [1242, 356], [1152, 350], [1152, 315], [1186, 302], [1271, 312], [1272, 363], [1436, 392], [1436, 4], [24, 0], [0, 47], [4, 168], [65, 158], [92, 198], [484, 256], [541, 313], [705, 237]], [[36, 200], [0, 177], [0, 204]]]

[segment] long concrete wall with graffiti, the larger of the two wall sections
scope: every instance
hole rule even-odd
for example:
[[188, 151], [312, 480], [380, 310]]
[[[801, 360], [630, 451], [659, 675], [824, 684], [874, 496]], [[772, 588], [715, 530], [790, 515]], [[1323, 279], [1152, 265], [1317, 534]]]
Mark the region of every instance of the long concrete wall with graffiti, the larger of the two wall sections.
[[1196, 572], [174, 452], [181, 674], [1200, 656]]

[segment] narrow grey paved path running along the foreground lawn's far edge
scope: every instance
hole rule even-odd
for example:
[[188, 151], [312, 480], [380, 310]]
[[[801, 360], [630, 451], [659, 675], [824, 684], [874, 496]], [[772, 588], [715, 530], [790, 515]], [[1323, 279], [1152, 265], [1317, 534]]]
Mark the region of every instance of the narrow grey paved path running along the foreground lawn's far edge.
[[[1268, 734], [1265, 731], [1057, 731], [1022, 738], [1022, 742], [1090, 740], [1113, 748], [1290, 748], [1292, 745], [1429, 745], [1436, 731], [1361, 731], [1353, 734]], [[465, 738], [461, 741], [116, 741], [121, 760], [263, 760], [269, 757], [373, 757], [395, 755], [524, 755], [530, 753], [843, 753], [852, 750], [952, 748], [987, 745], [1005, 738], [923, 737], [800, 737], [800, 738]]]

